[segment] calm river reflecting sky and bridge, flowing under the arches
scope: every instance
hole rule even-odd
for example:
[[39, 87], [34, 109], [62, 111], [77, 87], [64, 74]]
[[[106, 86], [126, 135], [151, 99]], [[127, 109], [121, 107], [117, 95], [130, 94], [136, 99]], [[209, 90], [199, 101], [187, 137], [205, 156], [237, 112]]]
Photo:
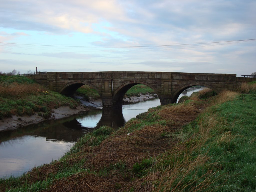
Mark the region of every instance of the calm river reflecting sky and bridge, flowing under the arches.
[[[180, 97], [198, 90], [183, 92]], [[102, 114], [102, 110], [91, 110], [16, 130], [1, 131], [0, 178], [22, 175], [34, 166], [50, 163], [69, 151], [81, 135], [102, 125], [117, 129], [129, 119], [158, 105], [160, 100], [152, 99], [123, 105], [122, 111], [111, 115]]]

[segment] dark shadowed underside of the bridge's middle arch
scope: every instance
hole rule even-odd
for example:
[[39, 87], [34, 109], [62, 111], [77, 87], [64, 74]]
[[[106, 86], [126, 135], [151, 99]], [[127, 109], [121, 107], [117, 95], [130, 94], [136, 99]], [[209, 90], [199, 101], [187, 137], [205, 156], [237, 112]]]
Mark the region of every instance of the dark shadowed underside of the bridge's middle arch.
[[137, 81], [137, 82], [128, 81], [128, 82], [123, 83], [122, 85], [120, 85], [118, 88], [116, 88], [114, 90], [113, 99], [112, 99], [113, 109], [122, 108], [122, 106], [123, 106], [123, 97], [124, 97], [125, 93], [131, 87], [133, 87], [133, 86], [135, 86], [137, 84], [144, 84], [144, 85], [150, 87], [159, 96], [159, 91], [155, 87], [153, 87], [151, 84], [149, 84], [147, 82], [144, 82], [144, 81]]

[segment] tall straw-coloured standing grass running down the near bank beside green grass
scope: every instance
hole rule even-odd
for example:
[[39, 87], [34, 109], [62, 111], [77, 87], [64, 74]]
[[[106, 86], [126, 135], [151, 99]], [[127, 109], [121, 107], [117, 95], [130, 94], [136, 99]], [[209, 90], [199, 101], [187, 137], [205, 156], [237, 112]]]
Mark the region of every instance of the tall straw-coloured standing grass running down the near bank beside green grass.
[[[185, 110], [185, 107], [183, 109]], [[193, 112], [191, 106], [188, 106], [187, 109]], [[172, 110], [175, 111], [175, 108]], [[156, 159], [158, 163], [153, 164], [152, 167], [152, 170], [155, 171], [148, 174], [145, 178], [135, 180], [132, 185], [127, 186], [126, 190], [134, 186], [134, 191], [200, 191], [202, 189], [212, 191], [213, 189], [210, 188], [213, 182], [211, 177], [216, 173], [212, 167], [215, 165], [210, 165], [208, 172], [198, 177], [196, 175], [197, 168], [206, 164], [209, 157], [206, 153], [202, 153], [195, 159], [192, 159], [191, 152], [205, 144], [209, 138], [209, 133], [215, 129], [217, 121], [213, 116], [204, 116], [198, 120], [198, 125], [199, 132], [196, 135], [193, 135], [186, 142], [176, 144], [176, 147], [164, 153], [160, 159]], [[230, 134], [227, 132], [221, 135], [218, 141], [222, 142], [224, 138], [230, 138]], [[174, 159], [166, 167], [165, 163], [169, 158]], [[191, 172], [193, 172], [193, 175], [190, 174]], [[193, 179], [188, 181], [185, 177], [189, 174]], [[188, 186], [194, 187], [186, 189]]]

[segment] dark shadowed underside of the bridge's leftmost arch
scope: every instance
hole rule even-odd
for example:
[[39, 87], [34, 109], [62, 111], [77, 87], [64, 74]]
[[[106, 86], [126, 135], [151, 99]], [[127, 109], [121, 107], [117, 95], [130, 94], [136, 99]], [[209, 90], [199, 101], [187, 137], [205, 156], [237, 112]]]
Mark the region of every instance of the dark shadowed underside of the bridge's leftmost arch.
[[87, 81], [72, 81], [72, 82], [69, 82], [69, 83], [63, 85], [59, 89], [58, 92], [63, 94], [63, 95], [72, 95], [79, 87], [81, 87], [83, 85], [88, 85], [91, 88], [95, 89], [101, 97], [101, 92], [99, 91], [99, 89], [97, 87], [95, 87], [93, 84], [91, 84]]

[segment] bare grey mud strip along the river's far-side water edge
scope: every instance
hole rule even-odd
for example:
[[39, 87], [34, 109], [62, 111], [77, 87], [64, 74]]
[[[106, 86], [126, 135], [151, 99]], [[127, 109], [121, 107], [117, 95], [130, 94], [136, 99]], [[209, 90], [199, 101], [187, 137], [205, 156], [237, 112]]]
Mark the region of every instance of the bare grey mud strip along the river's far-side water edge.
[[[133, 96], [131, 98], [124, 98], [123, 104], [130, 104], [130, 103], [136, 103], [140, 101], [145, 101], [148, 99], [156, 98], [157, 95], [154, 94], [140, 94], [140, 96]], [[81, 104], [77, 106], [77, 109], [71, 109], [69, 106], [63, 106], [58, 109], [52, 109], [52, 115], [49, 119], [60, 119], [64, 118], [69, 115], [74, 115], [82, 112], [86, 112], [91, 110], [92, 108], [96, 109], [102, 109], [102, 101], [101, 99], [98, 100], [91, 100], [86, 101], [83, 100], [80, 96], [75, 96], [76, 99], [80, 99]], [[17, 116], [13, 115], [9, 118], [4, 118], [3, 120], [0, 120], [0, 131], [4, 130], [14, 130], [22, 126], [30, 125], [30, 124], [36, 124], [42, 121], [45, 121], [46, 119], [42, 116], [39, 116], [38, 113], [28, 116]]]

